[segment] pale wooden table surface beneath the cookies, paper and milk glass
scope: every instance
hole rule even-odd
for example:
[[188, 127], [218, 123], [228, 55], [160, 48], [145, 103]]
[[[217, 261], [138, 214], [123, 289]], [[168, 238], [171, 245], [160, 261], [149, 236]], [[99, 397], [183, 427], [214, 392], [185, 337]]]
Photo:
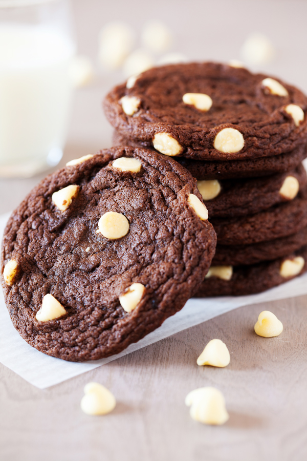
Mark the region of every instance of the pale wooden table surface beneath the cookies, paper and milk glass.
[[[176, 51], [188, 54], [190, 50], [189, 57], [198, 59], [238, 58], [239, 45], [249, 31], [265, 32], [277, 41], [278, 57], [264, 70], [307, 90], [307, 65], [302, 59], [306, 2], [204, 1], [202, 14], [192, 14], [199, 6], [192, 0], [187, 14], [187, 4], [155, 2], [154, 18], [161, 18], [158, 13], [163, 11], [164, 20], [176, 33]], [[145, 2], [115, 1], [106, 7], [99, 0], [75, 0], [74, 9], [79, 49], [93, 59], [101, 25], [119, 18], [139, 31], [152, 11]], [[222, 37], [211, 40], [208, 47], [210, 34], [217, 36], [216, 28]], [[100, 73], [91, 86], [76, 92], [61, 164], [111, 145], [112, 129], [102, 114], [101, 99], [122, 79], [120, 73]], [[0, 213], [17, 206], [42, 177], [0, 180], [4, 198]], [[254, 333], [262, 310], [273, 311], [282, 321], [284, 331], [278, 338]], [[36, 389], [0, 365], [0, 459], [306, 460], [306, 336], [304, 296], [238, 308], [46, 390]], [[196, 365], [196, 358], [213, 338], [222, 339], [229, 348], [231, 362], [225, 369]], [[111, 414], [82, 413], [83, 387], [90, 381], [115, 394], [117, 407]], [[202, 386], [224, 393], [230, 414], [224, 426], [191, 420], [184, 399]]]

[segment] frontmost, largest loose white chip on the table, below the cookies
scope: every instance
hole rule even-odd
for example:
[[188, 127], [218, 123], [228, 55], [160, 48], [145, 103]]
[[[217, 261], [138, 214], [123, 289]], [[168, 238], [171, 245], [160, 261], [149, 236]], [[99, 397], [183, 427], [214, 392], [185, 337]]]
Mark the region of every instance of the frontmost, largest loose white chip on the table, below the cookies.
[[188, 393], [185, 404], [193, 420], [203, 424], [222, 425], [229, 420], [224, 395], [214, 387], [200, 387]]

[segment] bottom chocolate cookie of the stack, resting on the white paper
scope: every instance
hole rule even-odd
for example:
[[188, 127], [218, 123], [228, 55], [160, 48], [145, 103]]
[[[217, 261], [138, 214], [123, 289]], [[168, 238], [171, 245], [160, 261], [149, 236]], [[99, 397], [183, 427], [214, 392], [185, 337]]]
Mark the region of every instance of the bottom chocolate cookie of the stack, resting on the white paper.
[[[288, 282], [307, 270], [307, 246], [275, 261], [233, 268], [229, 280], [205, 278], [195, 298], [210, 296], [242, 296], [259, 293]], [[217, 272], [218, 274], [218, 272]], [[221, 273], [222, 274], [222, 273]], [[210, 270], [208, 275], [210, 275]]]

